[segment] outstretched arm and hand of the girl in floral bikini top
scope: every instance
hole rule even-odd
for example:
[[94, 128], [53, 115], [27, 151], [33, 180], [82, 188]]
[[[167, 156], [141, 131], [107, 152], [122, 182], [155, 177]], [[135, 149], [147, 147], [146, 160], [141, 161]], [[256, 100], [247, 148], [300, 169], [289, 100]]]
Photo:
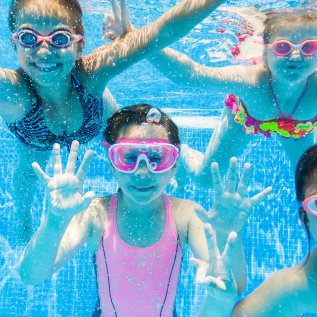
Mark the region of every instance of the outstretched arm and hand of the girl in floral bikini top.
[[[117, 7], [113, 12], [120, 11]], [[128, 8], [124, 7], [124, 14], [105, 14], [103, 22], [103, 39], [114, 40], [121, 34], [133, 32], [136, 28], [131, 24]], [[228, 66], [207, 67], [203, 66], [189, 56], [165, 48], [159, 53], [148, 56], [148, 60], [168, 79], [177, 85], [196, 87], [218, 92], [241, 94], [246, 86], [255, 85], [261, 67], [259, 66]]]

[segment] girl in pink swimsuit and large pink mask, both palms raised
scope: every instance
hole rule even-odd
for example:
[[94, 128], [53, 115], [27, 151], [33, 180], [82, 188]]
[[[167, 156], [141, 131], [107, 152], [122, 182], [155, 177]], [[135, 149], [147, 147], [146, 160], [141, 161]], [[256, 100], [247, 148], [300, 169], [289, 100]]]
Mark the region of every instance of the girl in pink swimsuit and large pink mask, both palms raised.
[[[266, 189], [251, 199], [245, 197], [250, 166], [245, 167], [237, 192], [235, 184], [230, 185], [228, 192], [215, 199], [210, 219], [214, 221], [218, 215], [220, 220], [214, 221], [219, 249], [224, 250], [220, 256], [210, 225], [205, 225], [204, 230], [203, 221], [195, 213], [204, 218], [206, 211], [192, 201], [163, 194], [179, 155], [180, 140], [174, 122], [158, 108], [129, 106], [108, 118], [104, 139], [102, 149], [108, 151], [120, 188], [115, 195], [93, 202], [92, 192], [83, 195], [93, 153], [87, 151], [74, 174], [77, 141], [72, 144], [64, 174], [58, 144], [53, 146], [54, 177], [33, 163], [36, 174], [46, 184], [49, 211], [22, 255], [22, 280], [27, 284], [42, 282], [87, 242], [97, 277], [94, 317], [175, 317], [183, 254], [190, 246], [198, 259], [192, 260], [197, 266], [197, 282], [205, 284], [210, 293], [217, 291], [221, 298], [224, 289], [233, 294], [243, 289], [246, 268], [242, 242], [231, 231], [239, 232], [247, 216], [237, 212], [236, 221], [228, 219], [221, 225], [220, 213], [234, 215], [235, 206], [244, 206], [242, 213], [248, 215], [270, 192]], [[236, 178], [236, 166], [233, 159], [230, 179]], [[207, 244], [205, 234], [213, 237], [211, 243]], [[235, 244], [240, 247], [233, 252]], [[232, 260], [238, 285], [232, 283]], [[215, 270], [217, 274], [213, 274]], [[210, 316], [214, 311], [215, 302], [209, 297], [199, 316]], [[226, 303], [226, 299], [221, 298], [221, 302]]]

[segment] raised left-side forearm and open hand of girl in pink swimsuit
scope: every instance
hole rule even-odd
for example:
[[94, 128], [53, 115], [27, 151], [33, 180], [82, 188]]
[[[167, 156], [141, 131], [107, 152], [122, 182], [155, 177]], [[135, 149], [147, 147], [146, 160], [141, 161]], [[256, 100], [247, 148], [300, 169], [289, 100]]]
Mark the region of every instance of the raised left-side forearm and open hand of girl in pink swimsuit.
[[32, 164], [46, 185], [49, 211], [21, 257], [19, 274], [26, 284], [40, 283], [50, 277], [77, 253], [92, 232], [87, 208], [93, 193], [83, 196], [82, 189], [93, 152], [87, 151], [74, 174], [78, 146], [73, 141], [64, 174], [58, 144], [53, 146], [54, 177], [46, 175], [37, 163]]

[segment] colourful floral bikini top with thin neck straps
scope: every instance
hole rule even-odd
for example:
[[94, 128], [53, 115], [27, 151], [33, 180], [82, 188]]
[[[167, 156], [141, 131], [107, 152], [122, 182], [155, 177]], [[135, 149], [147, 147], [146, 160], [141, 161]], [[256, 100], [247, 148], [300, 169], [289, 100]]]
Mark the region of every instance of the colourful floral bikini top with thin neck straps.
[[303, 91], [301, 97], [299, 98], [296, 106], [288, 118], [283, 117], [272, 89], [272, 96], [280, 114], [279, 118], [277, 119], [261, 121], [253, 118], [248, 113], [242, 101], [235, 95], [227, 95], [224, 99], [224, 103], [226, 107], [232, 110], [232, 114], [235, 114], [234, 120], [237, 123], [242, 124], [243, 130], [249, 134], [258, 134], [260, 132], [267, 138], [270, 138], [272, 133], [278, 133], [282, 138], [299, 139], [311, 133], [317, 126], [317, 115], [313, 119], [307, 121], [289, 119], [300, 104], [306, 88], [307, 83], [305, 90]]

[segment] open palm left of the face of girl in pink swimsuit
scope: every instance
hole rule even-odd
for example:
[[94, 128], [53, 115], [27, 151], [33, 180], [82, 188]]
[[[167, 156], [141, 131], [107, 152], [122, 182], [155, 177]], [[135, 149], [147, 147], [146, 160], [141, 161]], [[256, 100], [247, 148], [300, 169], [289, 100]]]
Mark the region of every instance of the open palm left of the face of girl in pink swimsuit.
[[54, 176], [50, 177], [36, 162], [32, 167], [36, 175], [46, 185], [49, 212], [55, 216], [71, 219], [75, 214], [87, 209], [94, 198], [93, 192], [83, 195], [83, 185], [94, 152], [88, 150], [75, 175], [78, 141], [73, 141], [65, 173], [62, 173], [59, 144], [53, 145]]

